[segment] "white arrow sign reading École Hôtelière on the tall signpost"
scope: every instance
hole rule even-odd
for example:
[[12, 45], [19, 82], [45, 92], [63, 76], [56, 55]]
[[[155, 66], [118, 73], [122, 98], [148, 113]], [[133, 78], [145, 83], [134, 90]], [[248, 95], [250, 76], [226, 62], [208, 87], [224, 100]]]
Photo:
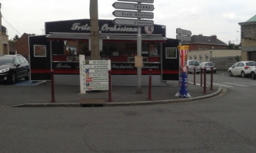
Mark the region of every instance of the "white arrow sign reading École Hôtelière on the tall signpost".
[[113, 11], [113, 15], [124, 18], [154, 18], [154, 13], [138, 11]]

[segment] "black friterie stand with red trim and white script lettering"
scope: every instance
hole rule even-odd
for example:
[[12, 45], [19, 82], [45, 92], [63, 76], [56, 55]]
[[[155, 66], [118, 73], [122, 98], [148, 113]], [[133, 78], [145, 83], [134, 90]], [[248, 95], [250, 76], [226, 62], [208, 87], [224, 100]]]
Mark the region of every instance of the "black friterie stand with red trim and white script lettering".
[[[101, 60], [111, 60], [113, 85], [136, 85], [138, 28], [115, 25], [111, 20], [99, 20], [99, 52]], [[45, 22], [45, 35], [29, 37], [31, 80], [79, 84], [79, 54], [91, 59], [90, 20]], [[155, 24], [141, 30], [143, 57], [142, 85], [148, 85], [148, 70], [152, 83], [165, 85], [178, 80], [178, 41], [166, 38], [166, 26]]]

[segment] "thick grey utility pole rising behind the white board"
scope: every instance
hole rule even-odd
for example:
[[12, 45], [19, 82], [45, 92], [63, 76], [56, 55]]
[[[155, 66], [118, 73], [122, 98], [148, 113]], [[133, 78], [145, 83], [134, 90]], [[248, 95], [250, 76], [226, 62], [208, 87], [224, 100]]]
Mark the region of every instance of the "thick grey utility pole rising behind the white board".
[[98, 41], [98, 0], [90, 0], [91, 60], [100, 60]]

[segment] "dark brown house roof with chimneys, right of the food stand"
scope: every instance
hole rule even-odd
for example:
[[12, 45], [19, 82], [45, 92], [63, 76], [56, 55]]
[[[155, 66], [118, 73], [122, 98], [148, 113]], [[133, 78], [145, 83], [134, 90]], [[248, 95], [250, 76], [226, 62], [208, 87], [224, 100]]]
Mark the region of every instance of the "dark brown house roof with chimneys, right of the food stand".
[[183, 41], [182, 44], [214, 44], [214, 45], [227, 45], [223, 41], [218, 40], [216, 35], [213, 36], [203, 36], [202, 34], [199, 35], [192, 35], [191, 41]]

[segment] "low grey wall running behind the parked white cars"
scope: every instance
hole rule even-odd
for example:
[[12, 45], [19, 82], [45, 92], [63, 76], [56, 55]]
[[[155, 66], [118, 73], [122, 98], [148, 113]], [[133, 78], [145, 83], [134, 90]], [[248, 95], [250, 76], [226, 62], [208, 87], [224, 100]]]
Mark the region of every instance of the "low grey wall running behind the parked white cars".
[[234, 63], [241, 60], [241, 56], [235, 57], [211, 57], [210, 61], [215, 63], [217, 70], [228, 70]]

